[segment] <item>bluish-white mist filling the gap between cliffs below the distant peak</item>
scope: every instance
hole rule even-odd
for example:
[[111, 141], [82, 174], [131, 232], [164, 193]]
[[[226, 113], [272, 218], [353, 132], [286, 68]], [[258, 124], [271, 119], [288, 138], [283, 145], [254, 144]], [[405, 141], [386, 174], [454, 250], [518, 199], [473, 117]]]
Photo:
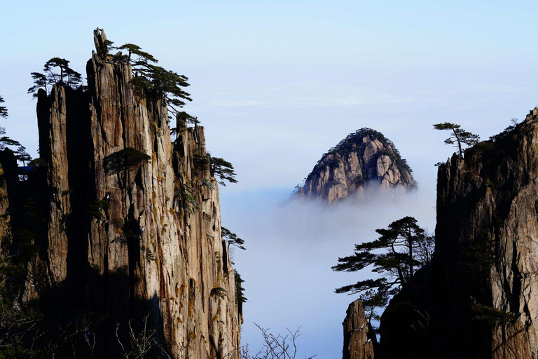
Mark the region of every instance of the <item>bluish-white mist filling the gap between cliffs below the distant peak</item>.
[[378, 238], [375, 229], [405, 216], [434, 231], [432, 188], [427, 191], [368, 187], [361, 197], [336, 205], [297, 201], [288, 189], [223, 194], [223, 226], [245, 240], [235, 250], [235, 268], [245, 280], [242, 345], [261, 348], [254, 323], [273, 334], [301, 326], [299, 357], [341, 358], [342, 321], [358, 295], [336, 287], [368, 278], [368, 273], [334, 272], [338, 257], [355, 243]]

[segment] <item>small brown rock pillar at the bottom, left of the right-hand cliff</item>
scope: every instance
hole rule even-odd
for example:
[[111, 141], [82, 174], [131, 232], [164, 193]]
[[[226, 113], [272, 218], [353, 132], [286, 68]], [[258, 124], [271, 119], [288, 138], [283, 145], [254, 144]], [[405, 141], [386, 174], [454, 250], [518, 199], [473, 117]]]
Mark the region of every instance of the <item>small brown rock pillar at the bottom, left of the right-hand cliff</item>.
[[357, 299], [347, 308], [344, 322], [343, 359], [373, 359], [375, 334], [366, 319], [362, 302]]

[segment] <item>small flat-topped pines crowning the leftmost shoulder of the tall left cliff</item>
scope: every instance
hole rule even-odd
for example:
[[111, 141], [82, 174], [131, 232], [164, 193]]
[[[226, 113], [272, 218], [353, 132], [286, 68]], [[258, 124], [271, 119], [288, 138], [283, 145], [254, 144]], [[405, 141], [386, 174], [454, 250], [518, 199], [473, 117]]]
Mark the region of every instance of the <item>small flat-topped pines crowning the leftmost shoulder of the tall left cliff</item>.
[[47, 86], [61, 84], [71, 88], [82, 85], [82, 75], [69, 67], [69, 61], [60, 57], [53, 57], [45, 63], [43, 73], [32, 72], [34, 86], [28, 89], [28, 93], [37, 96], [37, 90], [43, 88], [48, 93]]

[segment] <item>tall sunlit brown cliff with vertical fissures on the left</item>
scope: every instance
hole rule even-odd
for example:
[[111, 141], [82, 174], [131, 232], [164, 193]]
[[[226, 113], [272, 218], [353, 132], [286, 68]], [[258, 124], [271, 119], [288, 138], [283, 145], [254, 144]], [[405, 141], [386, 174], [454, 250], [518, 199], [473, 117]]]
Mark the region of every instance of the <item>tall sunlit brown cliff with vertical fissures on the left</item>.
[[[104, 40], [97, 31], [97, 49]], [[103, 316], [99, 355], [117, 358], [116, 324], [126, 330], [132, 319], [136, 330], [148, 314], [172, 353], [234, 357], [242, 318], [218, 186], [193, 161], [206, 155], [204, 129], [179, 123], [172, 142], [165, 100], [134, 92], [128, 62], [94, 53], [87, 74], [87, 91], [39, 92], [49, 220], [46, 255], [30, 271], [43, 269], [73, 306]], [[113, 168], [128, 148], [149, 159]]]

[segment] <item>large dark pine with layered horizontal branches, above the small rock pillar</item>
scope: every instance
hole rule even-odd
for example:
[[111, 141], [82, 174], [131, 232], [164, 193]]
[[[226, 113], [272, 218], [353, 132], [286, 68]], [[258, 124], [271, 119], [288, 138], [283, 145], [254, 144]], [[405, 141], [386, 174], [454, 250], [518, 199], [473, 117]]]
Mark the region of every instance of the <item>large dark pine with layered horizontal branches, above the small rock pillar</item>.
[[352, 285], [336, 288], [336, 293], [362, 293], [361, 300], [369, 318], [375, 318], [374, 309], [387, 305], [389, 296], [408, 283], [417, 269], [431, 260], [434, 238], [417, 224], [413, 217], [403, 217], [386, 229], [376, 229], [380, 237], [355, 245], [354, 254], [338, 258], [333, 271], [354, 272], [373, 266], [380, 278], [359, 280]]

